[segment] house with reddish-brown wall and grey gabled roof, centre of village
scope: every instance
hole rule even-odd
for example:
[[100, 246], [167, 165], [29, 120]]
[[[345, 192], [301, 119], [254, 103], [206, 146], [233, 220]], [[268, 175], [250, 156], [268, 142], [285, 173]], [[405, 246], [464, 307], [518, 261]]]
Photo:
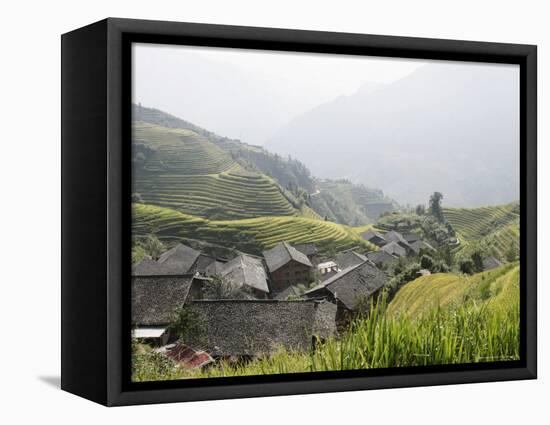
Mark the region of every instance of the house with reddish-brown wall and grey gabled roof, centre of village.
[[298, 283], [307, 284], [312, 279], [313, 265], [309, 258], [287, 242], [280, 242], [264, 251], [263, 256], [270, 273], [273, 293]]

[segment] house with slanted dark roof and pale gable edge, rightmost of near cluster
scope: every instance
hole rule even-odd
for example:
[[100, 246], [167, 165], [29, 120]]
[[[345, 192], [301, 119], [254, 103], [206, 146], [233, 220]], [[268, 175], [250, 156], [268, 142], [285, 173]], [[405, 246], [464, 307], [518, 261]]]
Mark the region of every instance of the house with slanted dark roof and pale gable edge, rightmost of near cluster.
[[351, 314], [379, 294], [388, 276], [370, 261], [348, 267], [307, 291], [308, 298], [326, 298], [337, 305], [337, 323], [346, 323]]

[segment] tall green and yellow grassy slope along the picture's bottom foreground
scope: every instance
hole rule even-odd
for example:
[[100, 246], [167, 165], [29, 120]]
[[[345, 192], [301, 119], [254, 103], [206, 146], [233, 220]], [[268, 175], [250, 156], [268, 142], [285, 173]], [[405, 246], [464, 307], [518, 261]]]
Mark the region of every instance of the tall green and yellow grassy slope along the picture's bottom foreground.
[[[437, 280], [443, 279], [441, 290], [434, 287], [433, 279], [417, 279], [403, 287], [389, 306], [384, 302], [372, 306], [368, 318], [357, 319], [344, 335], [329, 339], [309, 353], [279, 350], [271, 357], [244, 365], [218, 362], [200, 371], [180, 368], [143, 346], [136, 346], [133, 379], [150, 381], [519, 359], [519, 266], [508, 265], [480, 273], [469, 281], [452, 274], [434, 276]], [[464, 288], [451, 289], [453, 285]], [[419, 292], [422, 286], [424, 291]], [[454, 295], [449, 295], [449, 290]], [[402, 291], [405, 292], [402, 294]], [[419, 300], [437, 299], [439, 293], [447, 294], [447, 298], [441, 304], [419, 308], [418, 303], [407, 301], [409, 292], [416, 292]], [[406, 303], [411, 306], [410, 311], [405, 308]]]

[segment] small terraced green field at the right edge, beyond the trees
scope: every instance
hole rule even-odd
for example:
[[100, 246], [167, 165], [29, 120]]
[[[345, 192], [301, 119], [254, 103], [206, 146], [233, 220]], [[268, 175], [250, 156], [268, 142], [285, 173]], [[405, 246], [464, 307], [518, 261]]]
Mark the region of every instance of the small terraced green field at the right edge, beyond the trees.
[[504, 257], [511, 244], [519, 243], [519, 204], [481, 208], [444, 208], [445, 218], [457, 231], [460, 249], [481, 243]]

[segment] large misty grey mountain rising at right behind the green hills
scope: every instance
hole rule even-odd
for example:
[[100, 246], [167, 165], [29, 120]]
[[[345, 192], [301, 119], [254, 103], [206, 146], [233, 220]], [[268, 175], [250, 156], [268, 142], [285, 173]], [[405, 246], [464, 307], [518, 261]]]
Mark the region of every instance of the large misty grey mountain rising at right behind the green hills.
[[519, 197], [519, 71], [429, 64], [296, 117], [266, 147], [322, 178], [379, 187], [400, 203], [504, 204]]

